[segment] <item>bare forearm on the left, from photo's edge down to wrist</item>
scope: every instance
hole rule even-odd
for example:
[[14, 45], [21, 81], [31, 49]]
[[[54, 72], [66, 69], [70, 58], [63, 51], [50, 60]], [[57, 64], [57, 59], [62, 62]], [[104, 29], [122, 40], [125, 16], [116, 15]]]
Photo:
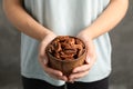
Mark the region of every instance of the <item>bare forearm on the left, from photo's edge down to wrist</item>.
[[3, 10], [18, 30], [37, 40], [42, 40], [50, 32], [24, 11], [21, 0], [3, 0]]

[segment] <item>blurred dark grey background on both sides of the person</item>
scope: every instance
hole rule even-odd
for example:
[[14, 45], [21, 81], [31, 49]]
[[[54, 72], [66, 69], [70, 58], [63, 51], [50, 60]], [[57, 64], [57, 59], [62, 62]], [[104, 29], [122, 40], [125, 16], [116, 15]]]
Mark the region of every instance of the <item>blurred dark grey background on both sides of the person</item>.
[[[0, 89], [21, 89], [20, 32], [3, 14], [0, 0]], [[133, 89], [133, 0], [127, 14], [110, 32], [113, 53], [110, 89]]]

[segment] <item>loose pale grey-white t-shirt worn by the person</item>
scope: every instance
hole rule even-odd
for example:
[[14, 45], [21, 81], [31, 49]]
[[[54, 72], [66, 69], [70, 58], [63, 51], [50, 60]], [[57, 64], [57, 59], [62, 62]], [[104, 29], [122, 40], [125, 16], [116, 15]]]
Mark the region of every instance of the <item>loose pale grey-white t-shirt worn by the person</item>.
[[[25, 10], [42, 26], [58, 36], [76, 36], [89, 27], [108, 7], [110, 0], [23, 0]], [[99, 28], [99, 27], [98, 27]], [[92, 82], [111, 72], [111, 43], [109, 33], [94, 39], [96, 62], [88, 76], [76, 81]], [[61, 86], [62, 80], [52, 79], [38, 61], [39, 41], [21, 34], [21, 75]]]

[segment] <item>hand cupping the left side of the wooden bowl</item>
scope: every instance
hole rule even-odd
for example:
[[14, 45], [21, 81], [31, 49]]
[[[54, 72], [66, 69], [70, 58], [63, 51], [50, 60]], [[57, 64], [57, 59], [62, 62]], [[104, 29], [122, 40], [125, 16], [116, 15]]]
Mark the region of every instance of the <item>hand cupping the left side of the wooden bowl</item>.
[[52, 78], [66, 81], [66, 77], [59, 70], [52, 69], [48, 66], [49, 59], [45, 55], [45, 47], [50, 43], [57, 36], [52, 32], [48, 33], [40, 43], [39, 49], [39, 62], [43, 70]]

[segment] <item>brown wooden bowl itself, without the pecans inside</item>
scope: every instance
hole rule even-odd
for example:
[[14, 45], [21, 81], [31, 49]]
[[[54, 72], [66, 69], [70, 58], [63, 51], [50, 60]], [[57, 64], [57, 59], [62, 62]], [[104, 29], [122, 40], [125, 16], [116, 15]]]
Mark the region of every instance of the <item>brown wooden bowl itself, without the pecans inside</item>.
[[[60, 37], [58, 37], [58, 38], [60, 38]], [[78, 39], [75, 37], [70, 37], [70, 38]], [[53, 39], [53, 41], [55, 39]], [[53, 42], [53, 41], [51, 41], [51, 42]], [[82, 40], [80, 40], [80, 41], [83, 43]], [[53, 68], [53, 69], [62, 71], [64, 76], [70, 76], [71, 72], [72, 72], [72, 70], [75, 67], [82, 66], [84, 63], [85, 58], [86, 58], [86, 48], [85, 48], [85, 44], [84, 44], [84, 51], [83, 51], [83, 53], [80, 57], [78, 57], [76, 59], [72, 59], [72, 60], [70, 60], [70, 59], [65, 59], [65, 60], [59, 59], [59, 58], [54, 57], [53, 55], [51, 55], [49, 52], [48, 48], [49, 48], [49, 44], [48, 44], [48, 47], [45, 49], [45, 52], [47, 52], [47, 56], [48, 56], [48, 59], [49, 59], [49, 66], [51, 68]]]

